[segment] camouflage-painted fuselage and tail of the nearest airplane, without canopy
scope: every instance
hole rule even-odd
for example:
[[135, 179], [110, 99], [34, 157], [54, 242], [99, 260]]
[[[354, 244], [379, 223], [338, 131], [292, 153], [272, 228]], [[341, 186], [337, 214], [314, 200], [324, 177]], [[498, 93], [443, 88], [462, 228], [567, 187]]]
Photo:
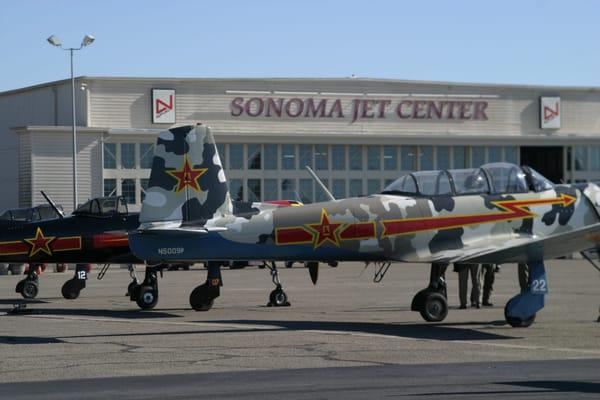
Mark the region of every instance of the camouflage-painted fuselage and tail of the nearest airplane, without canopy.
[[[176, 191], [177, 179], [169, 171], [181, 171], [185, 157], [194, 169], [207, 169], [198, 178], [200, 190], [194, 190], [192, 183]], [[147, 193], [140, 218], [142, 230], [130, 237], [130, 245], [142, 259], [170, 262], [249, 257], [427, 263], [468, 260], [471, 254], [494, 252], [507, 244], [528, 243], [598, 224], [600, 204], [600, 188], [590, 183], [501, 195], [379, 194], [302, 207], [255, 207], [236, 215], [214, 139], [204, 126], [171, 129], [160, 135]], [[454, 220], [458, 225], [444, 222]], [[144, 231], [166, 222], [195, 226], [198, 233], [173, 236]], [[571, 251], [592, 247], [598, 241], [597, 235], [585, 238], [585, 243], [574, 243]], [[159, 257], [160, 248], [181, 251]]]

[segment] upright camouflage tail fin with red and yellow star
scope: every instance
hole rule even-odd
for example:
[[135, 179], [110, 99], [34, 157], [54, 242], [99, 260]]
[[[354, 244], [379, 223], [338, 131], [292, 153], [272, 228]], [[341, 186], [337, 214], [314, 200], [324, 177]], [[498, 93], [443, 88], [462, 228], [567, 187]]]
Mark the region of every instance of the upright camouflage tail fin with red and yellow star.
[[161, 132], [140, 222], [206, 221], [232, 211], [225, 172], [210, 128], [186, 125]]

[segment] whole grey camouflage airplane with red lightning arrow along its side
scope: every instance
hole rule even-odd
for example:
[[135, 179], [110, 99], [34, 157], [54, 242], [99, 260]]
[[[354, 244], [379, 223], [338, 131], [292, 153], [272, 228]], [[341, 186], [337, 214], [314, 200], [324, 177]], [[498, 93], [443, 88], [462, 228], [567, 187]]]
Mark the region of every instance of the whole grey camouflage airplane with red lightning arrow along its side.
[[[240, 217], [210, 128], [183, 126], [159, 135], [129, 245], [150, 267], [232, 259], [430, 263], [430, 284], [412, 304], [427, 321], [447, 315], [444, 265], [526, 262], [529, 288], [507, 303], [505, 318], [529, 326], [548, 291], [544, 260], [595, 247], [599, 210], [594, 184], [555, 186], [531, 168], [493, 163], [415, 172], [380, 194]], [[208, 274], [191, 296], [200, 304], [221, 284], [218, 268]], [[141, 295], [152, 298], [152, 290], [142, 287]]]

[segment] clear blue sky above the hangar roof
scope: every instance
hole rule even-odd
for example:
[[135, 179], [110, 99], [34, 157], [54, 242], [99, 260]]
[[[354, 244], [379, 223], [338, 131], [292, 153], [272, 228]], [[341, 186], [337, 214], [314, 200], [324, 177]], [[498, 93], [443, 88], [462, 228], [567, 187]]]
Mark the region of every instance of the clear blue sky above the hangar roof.
[[6, 1], [0, 91], [76, 75], [600, 86], [596, 1]]

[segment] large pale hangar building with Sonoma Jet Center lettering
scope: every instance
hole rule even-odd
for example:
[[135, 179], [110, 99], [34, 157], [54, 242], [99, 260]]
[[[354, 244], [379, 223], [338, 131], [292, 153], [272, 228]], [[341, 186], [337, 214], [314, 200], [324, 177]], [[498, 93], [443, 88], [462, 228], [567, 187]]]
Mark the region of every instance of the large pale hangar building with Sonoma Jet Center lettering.
[[[490, 161], [550, 179], [600, 178], [600, 88], [387, 79], [76, 78], [79, 201], [139, 209], [155, 135], [211, 125], [232, 195], [323, 199], [380, 191], [411, 170]], [[0, 209], [72, 209], [70, 80], [0, 93]]]

